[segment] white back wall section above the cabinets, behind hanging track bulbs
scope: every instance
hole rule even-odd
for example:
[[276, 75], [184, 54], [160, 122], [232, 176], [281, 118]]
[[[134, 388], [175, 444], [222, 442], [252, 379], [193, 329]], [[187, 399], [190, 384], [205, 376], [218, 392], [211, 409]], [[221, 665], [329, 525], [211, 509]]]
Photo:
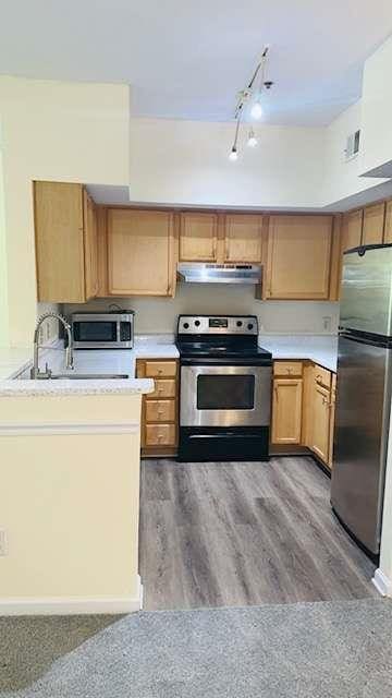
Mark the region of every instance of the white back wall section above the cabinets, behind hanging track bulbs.
[[233, 123], [131, 120], [134, 202], [197, 206], [313, 207], [321, 203], [324, 129], [259, 125], [257, 148], [228, 158]]

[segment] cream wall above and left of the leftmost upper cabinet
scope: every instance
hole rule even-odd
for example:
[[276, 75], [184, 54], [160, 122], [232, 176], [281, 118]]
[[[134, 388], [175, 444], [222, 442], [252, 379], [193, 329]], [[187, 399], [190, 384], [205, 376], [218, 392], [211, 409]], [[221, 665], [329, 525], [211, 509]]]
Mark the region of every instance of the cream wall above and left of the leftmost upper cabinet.
[[0, 77], [3, 334], [13, 346], [30, 344], [37, 314], [32, 180], [127, 184], [128, 111], [124, 85]]

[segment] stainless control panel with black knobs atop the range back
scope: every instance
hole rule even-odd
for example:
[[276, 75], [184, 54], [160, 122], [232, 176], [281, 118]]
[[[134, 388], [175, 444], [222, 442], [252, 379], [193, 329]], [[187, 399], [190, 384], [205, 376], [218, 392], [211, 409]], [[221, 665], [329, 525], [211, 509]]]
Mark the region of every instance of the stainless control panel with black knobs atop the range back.
[[179, 335], [258, 335], [256, 315], [180, 315]]

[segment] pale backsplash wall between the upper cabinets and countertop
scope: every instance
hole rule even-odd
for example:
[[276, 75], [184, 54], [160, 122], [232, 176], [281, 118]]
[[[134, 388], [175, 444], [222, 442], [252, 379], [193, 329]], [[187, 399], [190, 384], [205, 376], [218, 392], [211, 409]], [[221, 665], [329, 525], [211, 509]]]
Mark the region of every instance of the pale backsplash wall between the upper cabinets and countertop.
[[253, 287], [224, 285], [180, 285], [174, 299], [111, 298], [64, 305], [63, 312], [108, 310], [110, 303], [136, 312], [136, 334], [174, 333], [177, 315], [253, 314], [264, 334], [335, 335], [339, 303], [316, 301], [268, 301], [255, 299]]

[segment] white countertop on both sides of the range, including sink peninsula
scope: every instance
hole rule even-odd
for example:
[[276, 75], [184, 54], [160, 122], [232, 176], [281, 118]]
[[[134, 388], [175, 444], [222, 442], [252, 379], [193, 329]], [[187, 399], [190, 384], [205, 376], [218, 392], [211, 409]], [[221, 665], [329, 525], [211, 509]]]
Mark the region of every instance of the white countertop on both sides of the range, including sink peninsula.
[[[259, 335], [259, 346], [272, 352], [273, 359], [309, 359], [336, 371], [338, 337], [327, 335]], [[60, 342], [42, 349], [40, 366], [47, 361], [53, 373], [121, 373], [128, 378], [115, 380], [28, 380], [32, 352], [27, 349], [0, 349], [0, 396], [10, 395], [96, 395], [99, 393], [150, 393], [150, 380], [135, 378], [136, 359], [176, 359], [179, 350], [173, 335], [139, 335], [134, 349], [76, 349], [74, 370], [64, 368]], [[26, 380], [13, 380], [22, 374]]]

